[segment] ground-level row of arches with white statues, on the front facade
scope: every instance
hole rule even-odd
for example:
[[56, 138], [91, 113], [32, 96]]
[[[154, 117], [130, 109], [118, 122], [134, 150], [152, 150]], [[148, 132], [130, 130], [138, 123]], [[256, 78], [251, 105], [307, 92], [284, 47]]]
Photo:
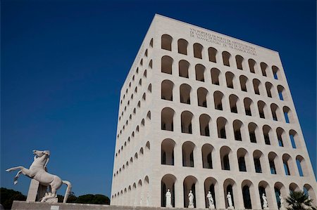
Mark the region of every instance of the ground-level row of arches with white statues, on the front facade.
[[[194, 194], [194, 207], [208, 208], [209, 202], [206, 198], [210, 191], [213, 196], [213, 201], [216, 209], [227, 209], [228, 200], [226, 195], [230, 192], [232, 204], [235, 209], [263, 209], [263, 193], [268, 199], [268, 208], [280, 208], [280, 196], [287, 197], [287, 188], [282, 182], [275, 182], [273, 185], [266, 181], [253, 183], [245, 179], [241, 183], [237, 183], [232, 178], [227, 178], [222, 183], [219, 183], [216, 178], [208, 177], [203, 182], [200, 182], [195, 176], [187, 176], [182, 183], [173, 174], [168, 173], [161, 178], [161, 206], [165, 206], [167, 189], [172, 193], [173, 207], [187, 207], [189, 190]], [[182, 184], [182, 192], [175, 190], [177, 185]], [[304, 192], [316, 199], [315, 192], [311, 185], [306, 183], [303, 186]], [[180, 190], [180, 188], [178, 188]], [[289, 191], [300, 190], [296, 183], [290, 183]], [[204, 194], [203, 194], [204, 193]], [[286, 205], [286, 204], [285, 204]]]

